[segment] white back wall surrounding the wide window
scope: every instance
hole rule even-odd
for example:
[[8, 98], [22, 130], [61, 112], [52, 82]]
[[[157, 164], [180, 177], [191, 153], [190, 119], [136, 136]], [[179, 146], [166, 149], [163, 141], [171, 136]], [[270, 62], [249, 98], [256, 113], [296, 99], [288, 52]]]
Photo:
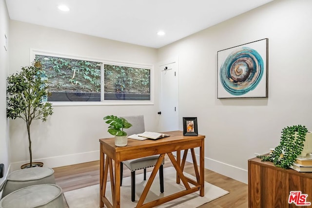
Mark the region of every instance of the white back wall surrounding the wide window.
[[[156, 66], [156, 49], [96, 38], [20, 21], [10, 21], [10, 74], [30, 64], [30, 48], [64, 55], [92, 57]], [[13, 44], [14, 43], [14, 44]], [[157, 79], [157, 73], [155, 73]], [[157, 95], [156, 95], [157, 97]], [[155, 100], [155, 103], [158, 101]], [[103, 117], [108, 114], [143, 114], [146, 130], [157, 131], [158, 105], [53, 106], [47, 122], [31, 126], [33, 161], [47, 167], [99, 159], [99, 138], [111, 137]], [[29, 162], [26, 126], [21, 119], [10, 121], [12, 169]]]

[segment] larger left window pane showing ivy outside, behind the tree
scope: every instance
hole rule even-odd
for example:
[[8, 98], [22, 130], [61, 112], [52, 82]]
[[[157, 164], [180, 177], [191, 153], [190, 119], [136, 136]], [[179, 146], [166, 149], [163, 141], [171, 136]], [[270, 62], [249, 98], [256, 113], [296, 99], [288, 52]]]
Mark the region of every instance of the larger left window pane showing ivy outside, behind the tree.
[[101, 63], [36, 55], [48, 79], [48, 101], [101, 101]]

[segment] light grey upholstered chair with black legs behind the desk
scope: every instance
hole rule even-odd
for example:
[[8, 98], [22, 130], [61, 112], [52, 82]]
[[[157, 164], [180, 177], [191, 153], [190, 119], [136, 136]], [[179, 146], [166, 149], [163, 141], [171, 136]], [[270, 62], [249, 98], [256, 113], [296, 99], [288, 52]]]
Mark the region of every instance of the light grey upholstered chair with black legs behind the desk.
[[[144, 116], [143, 115], [133, 115], [133, 116], [121, 116], [125, 118], [132, 127], [126, 129], [128, 135], [143, 133], [145, 132], [144, 126]], [[159, 155], [153, 155], [148, 157], [142, 157], [133, 160], [122, 161], [120, 164], [120, 186], [122, 185], [122, 172], [123, 165], [125, 165], [129, 170], [131, 170], [131, 201], [135, 201], [136, 196], [136, 170], [144, 169], [144, 180], [146, 180], [146, 168], [154, 167]], [[160, 192], [164, 192], [164, 176], [163, 176], [163, 164], [164, 160], [159, 167], [159, 181], [160, 181]], [[122, 165], [123, 164], [123, 165]]]

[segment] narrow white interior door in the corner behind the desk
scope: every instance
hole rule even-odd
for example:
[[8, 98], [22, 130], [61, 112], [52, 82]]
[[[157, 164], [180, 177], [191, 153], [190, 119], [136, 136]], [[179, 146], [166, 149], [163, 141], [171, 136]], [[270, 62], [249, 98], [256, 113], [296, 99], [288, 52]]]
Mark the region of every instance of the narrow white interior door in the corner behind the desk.
[[176, 62], [159, 66], [161, 71], [160, 132], [179, 130], [178, 69]]

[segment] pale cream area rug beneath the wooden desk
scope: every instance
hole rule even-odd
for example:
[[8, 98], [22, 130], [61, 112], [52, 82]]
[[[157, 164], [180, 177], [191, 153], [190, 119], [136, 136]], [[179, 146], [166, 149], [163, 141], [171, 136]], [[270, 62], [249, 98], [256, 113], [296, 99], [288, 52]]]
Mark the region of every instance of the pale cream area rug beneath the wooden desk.
[[[147, 179], [151, 172], [147, 172]], [[185, 173], [184, 175], [195, 179], [194, 176]], [[139, 196], [143, 192], [147, 180], [143, 180], [143, 173], [136, 175], [136, 201], [131, 201], [131, 178], [126, 177], [122, 179], [122, 187], [120, 187], [120, 205], [121, 208], [134, 208], [137, 205]], [[192, 184], [190, 184], [193, 187]], [[173, 167], [164, 169], [164, 193], [160, 193], [159, 188], [159, 174], [157, 173], [151, 189], [145, 199], [145, 203], [156, 200], [164, 196], [171, 195], [175, 192], [185, 190], [183, 183], [176, 184], [176, 170]], [[214, 199], [217, 199], [228, 191], [216, 187], [210, 183], [205, 182], [205, 196], [199, 196], [199, 191], [175, 199], [158, 206], [157, 208], [196, 208]], [[112, 194], [110, 182], [107, 183], [106, 194], [110, 202], [112, 202]], [[64, 192], [64, 196], [69, 208], [99, 208], [99, 185], [94, 185], [82, 189]]]

